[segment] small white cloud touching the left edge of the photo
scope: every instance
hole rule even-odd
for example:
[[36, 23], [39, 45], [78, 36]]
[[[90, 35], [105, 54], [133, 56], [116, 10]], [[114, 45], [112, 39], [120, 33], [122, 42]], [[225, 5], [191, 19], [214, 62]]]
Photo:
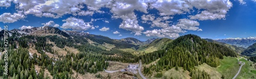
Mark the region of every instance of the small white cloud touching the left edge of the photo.
[[13, 23], [24, 18], [25, 18], [25, 15], [23, 15], [22, 13], [14, 13], [14, 14], [4, 13], [0, 15], [0, 22]]

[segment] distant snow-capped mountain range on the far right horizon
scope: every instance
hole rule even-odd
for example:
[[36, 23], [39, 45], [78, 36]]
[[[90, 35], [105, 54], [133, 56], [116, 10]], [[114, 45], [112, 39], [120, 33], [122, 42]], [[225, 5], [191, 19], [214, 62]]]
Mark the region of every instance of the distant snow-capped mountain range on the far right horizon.
[[215, 41], [223, 42], [230, 45], [235, 45], [238, 47], [248, 48], [252, 44], [256, 43], [256, 37], [225, 38], [225, 39], [215, 39]]

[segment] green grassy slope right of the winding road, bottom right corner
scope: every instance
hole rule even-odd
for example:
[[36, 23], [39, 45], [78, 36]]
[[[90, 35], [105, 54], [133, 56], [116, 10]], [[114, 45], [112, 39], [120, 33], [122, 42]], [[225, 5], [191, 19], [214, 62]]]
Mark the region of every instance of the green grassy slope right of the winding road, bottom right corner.
[[250, 66], [250, 64], [253, 64], [253, 62], [247, 61], [244, 58], [240, 59], [240, 61], [245, 62], [245, 65], [243, 65], [237, 78], [251, 78], [251, 76], [256, 78], [256, 69], [253, 68], [253, 66]]

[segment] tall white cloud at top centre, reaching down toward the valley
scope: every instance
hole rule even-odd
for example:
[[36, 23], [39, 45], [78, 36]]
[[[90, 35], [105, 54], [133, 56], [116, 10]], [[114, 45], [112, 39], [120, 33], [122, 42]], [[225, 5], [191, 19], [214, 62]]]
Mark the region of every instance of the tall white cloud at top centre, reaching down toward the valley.
[[121, 18], [123, 20], [119, 28], [130, 30], [135, 35], [141, 35], [139, 33], [144, 30], [144, 27], [138, 24], [137, 17], [133, 11], [138, 10], [147, 13], [148, 5], [144, 1], [116, 1], [107, 7], [111, 8], [112, 18]]

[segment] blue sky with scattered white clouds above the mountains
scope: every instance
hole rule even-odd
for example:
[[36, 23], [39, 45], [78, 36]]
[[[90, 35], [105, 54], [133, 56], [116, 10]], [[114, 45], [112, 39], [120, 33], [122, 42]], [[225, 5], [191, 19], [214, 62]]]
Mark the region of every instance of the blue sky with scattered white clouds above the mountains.
[[[67, 4], [67, 2], [69, 4]], [[16, 6], [16, 7], [15, 7]], [[1, 1], [0, 25], [53, 26], [120, 39], [256, 37], [256, 1]]]

